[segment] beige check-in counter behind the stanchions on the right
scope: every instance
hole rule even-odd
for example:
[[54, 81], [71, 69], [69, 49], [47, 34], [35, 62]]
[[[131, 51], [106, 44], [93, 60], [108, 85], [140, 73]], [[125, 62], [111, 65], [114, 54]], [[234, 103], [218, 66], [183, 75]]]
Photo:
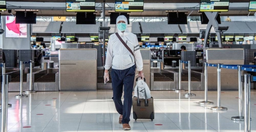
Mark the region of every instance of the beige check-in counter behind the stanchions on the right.
[[[227, 65], [243, 65], [244, 49], [204, 49], [204, 62]], [[203, 70], [204, 71], [204, 70]], [[217, 89], [217, 68], [208, 66], [208, 89]], [[238, 71], [221, 68], [221, 90], [238, 89]]]

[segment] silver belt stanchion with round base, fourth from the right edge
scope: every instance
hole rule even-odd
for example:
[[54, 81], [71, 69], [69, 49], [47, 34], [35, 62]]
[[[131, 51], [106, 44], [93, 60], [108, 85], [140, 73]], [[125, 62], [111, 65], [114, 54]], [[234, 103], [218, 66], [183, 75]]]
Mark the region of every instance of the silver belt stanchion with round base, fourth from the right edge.
[[204, 63], [204, 101], [198, 102], [199, 104], [213, 104], [208, 101], [208, 68], [207, 62]]

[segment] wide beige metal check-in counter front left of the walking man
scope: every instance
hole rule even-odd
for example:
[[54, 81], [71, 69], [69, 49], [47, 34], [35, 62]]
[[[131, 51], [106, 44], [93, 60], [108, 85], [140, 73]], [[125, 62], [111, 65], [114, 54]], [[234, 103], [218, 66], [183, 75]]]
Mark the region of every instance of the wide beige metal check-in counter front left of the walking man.
[[59, 50], [59, 90], [97, 90], [97, 50]]

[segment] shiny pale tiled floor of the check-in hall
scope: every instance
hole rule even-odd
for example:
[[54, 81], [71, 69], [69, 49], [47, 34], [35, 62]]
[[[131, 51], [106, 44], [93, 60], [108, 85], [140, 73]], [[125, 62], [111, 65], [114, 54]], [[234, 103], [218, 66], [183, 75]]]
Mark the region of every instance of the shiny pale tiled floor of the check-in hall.
[[[217, 106], [217, 91], [209, 91], [213, 105], [201, 106], [204, 91], [184, 93], [151, 91], [155, 119], [135, 121], [131, 114], [129, 132], [244, 132], [238, 116], [238, 91], [222, 91], [221, 106], [227, 111], [212, 111]], [[9, 92], [8, 132], [123, 132], [118, 123], [112, 90], [90, 92], [37, 92], [16, 99], [18, 92]], [[256, 91], [251, 91], [251, 131], [256, 132]], [[156, 125], [160, 124], [160, 125]], [[28, 128], [26, 128], [26, 126]]]

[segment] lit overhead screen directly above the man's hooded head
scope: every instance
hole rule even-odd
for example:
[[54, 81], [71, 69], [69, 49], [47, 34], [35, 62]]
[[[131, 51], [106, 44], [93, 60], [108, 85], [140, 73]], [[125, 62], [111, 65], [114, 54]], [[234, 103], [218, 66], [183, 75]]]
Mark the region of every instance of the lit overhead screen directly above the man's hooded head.
[[115, 11], [143, 12], [144, 0], [115, 0]]

